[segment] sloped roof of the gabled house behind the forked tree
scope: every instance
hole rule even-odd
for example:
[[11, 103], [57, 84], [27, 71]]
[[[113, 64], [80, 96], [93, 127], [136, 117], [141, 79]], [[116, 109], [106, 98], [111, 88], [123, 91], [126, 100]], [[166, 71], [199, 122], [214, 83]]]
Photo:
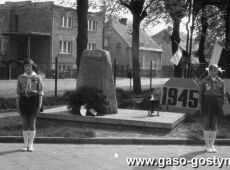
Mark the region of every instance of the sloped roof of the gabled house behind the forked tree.
[[[112, 22], [112, 28], [129, 47], [132, 47], [132, 25]], [[162, 48], [142, 29], [140, 29], [139, 48], [144, 51], [163, 52]]]

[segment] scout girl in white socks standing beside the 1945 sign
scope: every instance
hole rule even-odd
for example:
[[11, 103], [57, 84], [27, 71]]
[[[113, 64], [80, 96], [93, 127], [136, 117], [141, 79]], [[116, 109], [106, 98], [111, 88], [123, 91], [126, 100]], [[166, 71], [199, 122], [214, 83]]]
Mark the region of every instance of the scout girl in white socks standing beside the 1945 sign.
[[222, 70], [217, 64], [210, 64], [207, 70], [208, 76], [201, 81], [200, 111], [204, 121], [205, 150], [207, 152], [217, 152], [214, 143], [218, 117], [223, 113], [224, 82], [218, 76], [218, 73]]

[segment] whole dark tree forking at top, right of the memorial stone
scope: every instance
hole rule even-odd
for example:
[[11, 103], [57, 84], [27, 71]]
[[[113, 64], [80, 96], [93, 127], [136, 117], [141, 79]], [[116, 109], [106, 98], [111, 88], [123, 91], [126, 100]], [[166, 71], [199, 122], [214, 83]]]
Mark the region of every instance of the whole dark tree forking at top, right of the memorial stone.
[[147, 16], [147, 9], [154, 0], [120, 0], [133, 15], [132, 25], [132, 69], [134, 93], [141, 93], [140, 61], [139, 61], [139, 35], [140, 23]]

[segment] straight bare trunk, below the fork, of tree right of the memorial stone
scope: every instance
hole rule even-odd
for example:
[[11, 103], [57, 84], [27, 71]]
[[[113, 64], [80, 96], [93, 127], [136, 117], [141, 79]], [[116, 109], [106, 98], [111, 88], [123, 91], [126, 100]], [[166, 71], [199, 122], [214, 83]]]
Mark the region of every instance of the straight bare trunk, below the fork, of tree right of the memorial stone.
[[132, 33], [132, 64], [133, 64], [133, 90], [134, 93], [141, 93], [140, 80], [140, 61], [139, 61], [139, 34], [140, 18], [133, 14], [133, 33]]

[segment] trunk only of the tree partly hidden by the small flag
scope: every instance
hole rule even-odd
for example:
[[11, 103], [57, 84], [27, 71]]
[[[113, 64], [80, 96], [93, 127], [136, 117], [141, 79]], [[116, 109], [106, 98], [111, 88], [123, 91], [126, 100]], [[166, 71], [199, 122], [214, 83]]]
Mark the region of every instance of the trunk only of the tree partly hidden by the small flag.
[[[180, 19], [173, 19], [173, 32], [172, 32], [172, 54], [174, 55], [180, 44]], [[178, 65], [174, 65], [174, 76], [181, 77], [182, 70], [180, 63]]]

